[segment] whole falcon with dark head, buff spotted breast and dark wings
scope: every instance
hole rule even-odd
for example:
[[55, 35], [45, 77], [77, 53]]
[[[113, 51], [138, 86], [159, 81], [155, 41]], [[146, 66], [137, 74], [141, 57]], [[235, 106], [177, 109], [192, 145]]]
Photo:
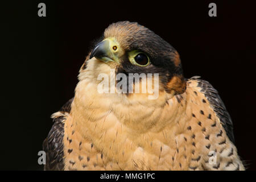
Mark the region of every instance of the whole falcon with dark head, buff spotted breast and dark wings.
[[[147, 75], [127, 88], [147, 85], [151, 73], [158, 97], [99, 92], [101, 73]], [[217, 90], [198, 76], [184, 78], [174, 47], [136, 22], [106, 28], [80, 69], [75, 96], [52, 118], [46, 170], [245, 169]]]

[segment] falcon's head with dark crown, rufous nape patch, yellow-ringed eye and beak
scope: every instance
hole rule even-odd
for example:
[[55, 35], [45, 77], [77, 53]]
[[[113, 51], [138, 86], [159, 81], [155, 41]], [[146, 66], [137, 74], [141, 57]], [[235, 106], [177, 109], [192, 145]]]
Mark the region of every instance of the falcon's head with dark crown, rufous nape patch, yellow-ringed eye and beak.
[[[169, 98], [183, 93], [186, 87], [177, 51], [153, 31], [136, 22], [110, 24], [88, 61], [93, 62], [89, 69], [93, 70], [94, 77], [110, 69], [114, 69], [115, 75], [151, 73], [154, 76], [158, 73], [159, 92]], [[81, 69], [88, 68], [88, 64], [85, 62]]]

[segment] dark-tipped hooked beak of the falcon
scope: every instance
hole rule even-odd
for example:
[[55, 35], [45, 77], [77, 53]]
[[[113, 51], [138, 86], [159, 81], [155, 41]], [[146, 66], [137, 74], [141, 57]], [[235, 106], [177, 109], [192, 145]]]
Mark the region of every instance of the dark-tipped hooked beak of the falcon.
[[110, 61], [117, 62], [114, 59], [115, 56], [113, 52], [110, 50], [109, 40], [103, 40], [96, 45], [92, 53], [90, 53], [90, 59], [92, 59], [93, 57], [96, 57], [96, 59], [104, 61], [105, 63], [108, 63]]

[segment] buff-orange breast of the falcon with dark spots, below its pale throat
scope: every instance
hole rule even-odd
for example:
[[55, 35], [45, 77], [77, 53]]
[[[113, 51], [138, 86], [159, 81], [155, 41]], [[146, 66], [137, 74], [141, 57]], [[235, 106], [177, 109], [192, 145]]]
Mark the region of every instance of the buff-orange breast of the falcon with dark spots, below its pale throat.
[[[72, 117], [71, 113], [64, 126], [65, 169], [244, 169], [236, 147], [226, 136], [220, 119], [197, 85], [196, 80], [189, 81], [184, 94], [167, 101], [159, 119], [165, 118], [167, 113], [174, 117], [157, 131], [135, 133], [121, 124], [117, 117], [106, 117], [104, 122], [115, 127], [109, 127], [105, 132], [101, 129], [102, 121], [91, 123], [95, 132], [104, 131], [100, 135], [102, 138], [97, 140], [89, 129], [81, 130], [81, 122], [77, 119], [85, 118], [78, 114]], [[170, 113], [170, 107], [177, 112]]]

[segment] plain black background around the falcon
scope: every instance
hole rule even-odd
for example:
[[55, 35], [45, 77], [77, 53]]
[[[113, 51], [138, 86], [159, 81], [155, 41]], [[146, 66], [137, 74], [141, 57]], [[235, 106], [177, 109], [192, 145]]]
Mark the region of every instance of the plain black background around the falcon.
[[[38, 3], [46, 3], [46, 17]], [[94, 2], [94, 3], [92, 3]], [[238, 153], [256, 169], [255, 6], [249, 1], [24, 1], [2, 6], [0, 169], [40, 170], [49, 118], [73, 97], [93, 41], [110, 23], [136, 21], [180, 53], [184, 75], [218, 90], [234, 123]], [[208, 16], [210, 2], [217, 17]], [[4, 50], [5, 50], [4, 49]]]

